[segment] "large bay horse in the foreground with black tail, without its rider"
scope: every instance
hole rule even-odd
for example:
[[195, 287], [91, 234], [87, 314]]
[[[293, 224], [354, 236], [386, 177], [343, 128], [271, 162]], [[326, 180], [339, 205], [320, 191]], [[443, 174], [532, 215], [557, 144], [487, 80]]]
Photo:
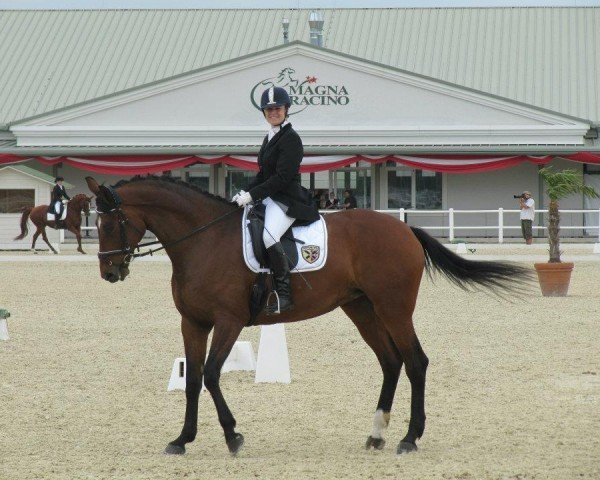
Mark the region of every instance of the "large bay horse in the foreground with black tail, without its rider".
[[[242, 255], [242, 210], [227, 200], [170, 177], [134, 177], [114, 187], [86, 177], [96, 195], [100, 276], [124, 280], [134, 248], [151, 231], [169, 256], [175, 306], [187, 359], [186, 409], [181, 434], [165, 452], [185, 453], [197, 433], [198, 397], [204, 384], [215, 403], [229, 451], [244, 437], [219, 386], [221, 367], [241, 330], [248, 326], [255, 274]], [[397, 453], [417, 449], [425, 428], [425, 371], [429, 363], [412, 315], [423, 271], [441, 272], [458, 287], [517, 292], [529, 270], [510, 263], [467, 260], [439, 241], [395, 217], [355, 209], [326, 216], [330, 248], [326, 265], [305, 273], [309, 288], [292, 275], [295, 309], [261, 313], [253, 325], [305, 320], [341, 307], [371, 347], [383, 371], [383, 384], [367, 448], [383, 447], [383, 433], [402, 364], [411, 385], [408, 432]], [[139, 255], [139, 254], [138, 254]], [[207, 338], [213, 332], [207, 353]]]

